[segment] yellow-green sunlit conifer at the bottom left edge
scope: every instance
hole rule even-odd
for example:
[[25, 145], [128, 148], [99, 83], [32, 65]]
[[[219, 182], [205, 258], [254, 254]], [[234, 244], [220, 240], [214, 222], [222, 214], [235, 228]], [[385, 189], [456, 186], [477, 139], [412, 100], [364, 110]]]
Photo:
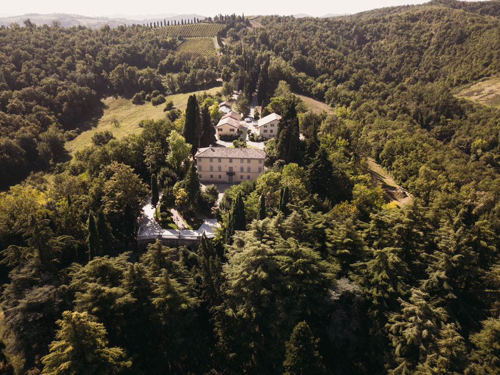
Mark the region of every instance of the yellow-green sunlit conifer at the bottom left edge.
[[106, 330], [87, 313], [64, 311], [60, 329], [41, 361], [42, 375], [118, 374], [131, 365], [119, 347], [108, 347]]

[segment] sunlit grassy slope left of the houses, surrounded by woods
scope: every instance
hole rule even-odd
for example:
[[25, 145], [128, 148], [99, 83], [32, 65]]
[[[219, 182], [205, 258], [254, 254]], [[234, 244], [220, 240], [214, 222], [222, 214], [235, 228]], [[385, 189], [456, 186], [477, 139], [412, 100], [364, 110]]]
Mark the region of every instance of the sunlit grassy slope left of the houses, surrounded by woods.
[[[187, 103], [187, 98], [189, 95], [195, 93], [196, 95], [207, 92], [214, 94], [220, 90], [220, 87], [212, 87], [207, 90], [199, 90], [186, 93], [178, 93], [174, 95], [166, 96], [166, 100], [172, 100], [173, 105], [184, 110]], [[165, 104], [160, 104], [153, 106], [150, 102], [146, 102], [142, 105], [132, 104], [130, 99], [124, 97], [107, 97], [102, 100], [105, 105], [104, 114], [99, 119], [96, 127], [83, 131], [78, 134], [78, 136], [71, 141], [66, 143], [66, 148], [69, 152], [74, 153], [76, 150], [80, 150], [85, 146], [89, 145], [91, 142], [92, 135], [97, 131], [109, 130], [113, 133], [116, 138], [121, 138], [128, 134], [138, 134], [142, 131], [142, 128], [138, 126], [138, 123], [142, 119], [159, 119], [164, 116], [163, 108]], [[113, 120], [116, 119], [119, 122], [118, 126], [113, 124]]]

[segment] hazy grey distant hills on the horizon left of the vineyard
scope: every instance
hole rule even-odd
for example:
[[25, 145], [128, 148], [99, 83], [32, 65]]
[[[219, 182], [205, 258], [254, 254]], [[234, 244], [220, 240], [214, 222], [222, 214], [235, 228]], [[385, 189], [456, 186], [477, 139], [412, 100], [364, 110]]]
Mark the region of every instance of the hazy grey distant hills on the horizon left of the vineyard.
[[[166, 16], [169, 14], [170, 16]], [[130, 17], [130, 18], [127, 18]], [[136, 16], [135, 19], [132, 19], [131, 17], [134, 16], [127, 16], [127, 17], [88, 17], [84, 15], [78, 15], [78, 14], [67, 14], [67, 13], [49, 13], [49, 14], [38, 14], [38, 13], [26, 13], [22, 15], [14, 15], [14, 16], [8, 16], [8, 17], [1, 17], [0, 18], [0, 26], [8, 26], [11, 23], [18, 23], [19, 25], [22, 26], [22, 23], [24, 22], [25, 19], [29, 18], [29, 20], [37, 25], [41, 24], [50, 24], [52, 21], [56, 20], [61, 23], [62, 26], [65, 27], [70, 27], [70, 26], [89, 26], [89, 27], [94, 27], [94, 28], [99, 28], [105, 24], [108, 24], [109, 27], [116, 27], [120, 24], [142, 24], [142, 23], [150, 23], [150, 22], [159, 22], [159, 21], [180, 21], [181, 19], [192, 19], [192, 18], [199, 18], [204, 19], [204, 15], [200, 14], [173, 14], [172, 13], [166, 13], [166, 14], [144, 14], [144, 15], [138, 15]], [[146, 18], [142, 18], [146, 17]]]

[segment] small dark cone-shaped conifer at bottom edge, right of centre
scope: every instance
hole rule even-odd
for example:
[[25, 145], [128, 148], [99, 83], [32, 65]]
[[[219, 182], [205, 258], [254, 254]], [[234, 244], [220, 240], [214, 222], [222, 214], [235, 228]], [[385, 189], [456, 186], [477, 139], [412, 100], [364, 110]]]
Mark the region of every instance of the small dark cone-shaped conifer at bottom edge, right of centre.
[[293, 328], [290, 340], [286, 341], [284, 375], [319, 375], [326, 373], [321, 355], [317, 350], [318, 339], [314, 339], [305, 321]]

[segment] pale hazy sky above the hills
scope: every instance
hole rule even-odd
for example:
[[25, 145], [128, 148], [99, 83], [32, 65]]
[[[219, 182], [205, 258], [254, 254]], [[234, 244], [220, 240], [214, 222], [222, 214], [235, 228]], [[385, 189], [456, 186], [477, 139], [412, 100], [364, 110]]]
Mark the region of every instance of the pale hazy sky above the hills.
[[296, 14], [320, 16], [326, 13], [356, 13], [384, 6], [421, 4], [423, 0], [2, 0], [1, 15], [24, 13], [76, 13], [96, 16], [108, 14], [216, 13]]

